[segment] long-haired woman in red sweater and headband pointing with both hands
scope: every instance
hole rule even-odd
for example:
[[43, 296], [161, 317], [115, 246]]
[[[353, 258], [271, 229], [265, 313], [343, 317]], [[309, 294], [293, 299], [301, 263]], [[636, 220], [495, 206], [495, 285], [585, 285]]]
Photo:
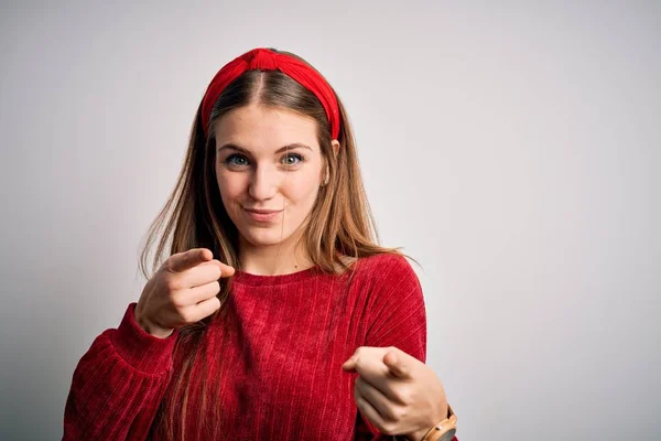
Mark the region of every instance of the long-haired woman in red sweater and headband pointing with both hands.
[[64, 439], [453, 439], [419, 280], [377, 240], [324, 77], [270, 49], [231, 61], [150, 229], [153, 275], [74, 372]]

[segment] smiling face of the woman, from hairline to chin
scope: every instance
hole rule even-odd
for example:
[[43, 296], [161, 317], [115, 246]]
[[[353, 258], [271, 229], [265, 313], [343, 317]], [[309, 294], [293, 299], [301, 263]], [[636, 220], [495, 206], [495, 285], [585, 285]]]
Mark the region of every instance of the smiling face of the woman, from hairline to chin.
[[227, 112], [214, 128], [218, 189], [240, 235], [257, 247], [291, 238], [325, 178], [316, 121], [249, 105]]

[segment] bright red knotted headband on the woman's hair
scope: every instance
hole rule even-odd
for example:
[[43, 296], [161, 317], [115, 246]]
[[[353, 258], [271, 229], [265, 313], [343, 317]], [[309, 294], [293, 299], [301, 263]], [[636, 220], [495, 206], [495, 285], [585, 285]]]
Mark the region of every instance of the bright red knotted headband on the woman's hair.
[[279, 54], [261, 47], [253, 49], [227, 63], [212, 79], [202, 99], [202, 125], [205, 133], [208, 135], [209, 132], [212, 108], [225, 87], [243, 72], [254, 69], [280, 71], [312, 92], [319, 99], [322, 106], [324, 106], [326, 117], [330, 123], [330, 135], [333, 139], [337, 139], [339, 136], [339, 109], [335, 99], [335, 93], [328, 83], [304, 62], [293, 56]]

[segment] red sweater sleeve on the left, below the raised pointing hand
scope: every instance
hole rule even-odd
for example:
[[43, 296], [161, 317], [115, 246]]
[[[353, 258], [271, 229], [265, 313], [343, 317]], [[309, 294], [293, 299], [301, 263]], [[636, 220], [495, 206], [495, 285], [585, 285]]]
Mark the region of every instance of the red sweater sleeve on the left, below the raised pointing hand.
[[178, 331], [147, 333], [130, 303], [117, 329], [98, 335], [74, 370], [63, 440], [144, 440], [172, 373]]

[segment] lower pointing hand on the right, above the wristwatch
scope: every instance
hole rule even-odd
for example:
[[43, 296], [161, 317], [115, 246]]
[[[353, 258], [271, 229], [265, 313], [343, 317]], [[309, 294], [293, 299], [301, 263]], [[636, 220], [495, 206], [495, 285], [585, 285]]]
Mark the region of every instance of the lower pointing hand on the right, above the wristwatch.
[[358, 373], [358, 409], [380, 432], [419, 441], [447, 416], [445, 390], [424, 363], [397, 347], [359, 347], [342, 366]]

